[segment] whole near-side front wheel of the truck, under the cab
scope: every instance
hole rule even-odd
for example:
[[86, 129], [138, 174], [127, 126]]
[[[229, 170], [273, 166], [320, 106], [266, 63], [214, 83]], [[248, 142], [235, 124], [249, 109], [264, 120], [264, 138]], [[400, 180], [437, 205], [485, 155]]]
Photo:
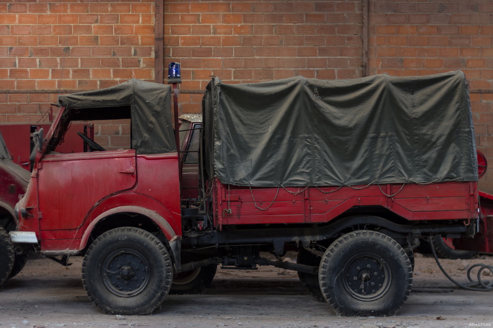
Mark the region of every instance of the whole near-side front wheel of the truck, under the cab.
[[82, 262], [82, 283], [91, 301], [110, 314], [149, 314], [170, 291], [171, 257], [145, 230], [122, 227], [91, 244]]

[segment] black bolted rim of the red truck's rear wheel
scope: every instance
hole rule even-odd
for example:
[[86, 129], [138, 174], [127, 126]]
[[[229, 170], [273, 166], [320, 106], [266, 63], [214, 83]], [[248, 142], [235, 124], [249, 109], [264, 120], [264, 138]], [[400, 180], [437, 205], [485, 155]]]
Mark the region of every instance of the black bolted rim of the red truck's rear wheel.
[[352, 297], [363, 301], [381, 298], [391, 281], [390, 267], [380, 256], [360, 253], [346, 262], [344, 287]]

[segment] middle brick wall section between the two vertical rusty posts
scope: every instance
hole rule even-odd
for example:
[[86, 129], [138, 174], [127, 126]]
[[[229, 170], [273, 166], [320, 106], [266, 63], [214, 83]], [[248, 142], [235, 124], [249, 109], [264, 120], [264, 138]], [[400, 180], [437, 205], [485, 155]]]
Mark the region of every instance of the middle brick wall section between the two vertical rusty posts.
[[[165, 1], [165, 57], [182, 66], [181, 89], [225, 82], [361, 76], [362, 2]], [[167, 61], [168, 62], [168, 61]], [[200, 95], [181, 97], [198, 112]]]

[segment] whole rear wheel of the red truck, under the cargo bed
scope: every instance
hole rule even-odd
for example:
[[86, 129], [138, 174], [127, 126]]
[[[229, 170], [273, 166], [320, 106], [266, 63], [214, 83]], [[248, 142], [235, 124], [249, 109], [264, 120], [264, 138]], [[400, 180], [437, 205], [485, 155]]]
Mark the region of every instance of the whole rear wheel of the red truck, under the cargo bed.
[[408, 298], [413, 269], [394, 239], [358, 230], [336, 239], [327, 248], [318, 278], [323, 296], [338, 314], [389, 316]]

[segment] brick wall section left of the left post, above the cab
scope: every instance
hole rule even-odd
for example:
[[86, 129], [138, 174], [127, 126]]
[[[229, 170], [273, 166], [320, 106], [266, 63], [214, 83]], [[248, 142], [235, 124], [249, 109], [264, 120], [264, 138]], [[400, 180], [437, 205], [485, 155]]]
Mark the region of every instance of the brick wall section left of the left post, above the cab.
[[[0, 122], [45, 119], [59, 90], [154, 80], [153, 0], [3, 1], [0, 24]], [[124, 125], [96, 126], [98, 142], [119, 148]]]

